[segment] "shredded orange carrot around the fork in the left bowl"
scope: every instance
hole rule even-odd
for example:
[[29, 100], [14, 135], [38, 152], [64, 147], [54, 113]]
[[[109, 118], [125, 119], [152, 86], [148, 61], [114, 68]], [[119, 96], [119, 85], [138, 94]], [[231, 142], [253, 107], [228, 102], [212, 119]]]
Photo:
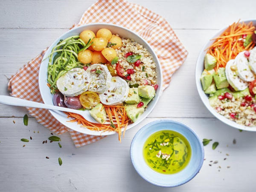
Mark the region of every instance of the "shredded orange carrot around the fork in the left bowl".
[[[124, 129], [124, 133], [126, 128], [130, 122], [129, 117], [127, 117], [124, 106], [108, 106], [104, 105], [107, 113], [107, 123], [99, 124], [99, 123], [91, 123], [84, 119], [81, 115], [76, 113], [65, 112], [68, 115], [68, 118], [72, 118], [68, 122], [77, 122], [77, 124], [81, 124], [81, 127], [86, 127], [92, 131], [115, 131], [118, 133], [118, 140], [121, 143], [121, 134], [122, 129]], [[101, 110], [103, 110], [103, 108]]]

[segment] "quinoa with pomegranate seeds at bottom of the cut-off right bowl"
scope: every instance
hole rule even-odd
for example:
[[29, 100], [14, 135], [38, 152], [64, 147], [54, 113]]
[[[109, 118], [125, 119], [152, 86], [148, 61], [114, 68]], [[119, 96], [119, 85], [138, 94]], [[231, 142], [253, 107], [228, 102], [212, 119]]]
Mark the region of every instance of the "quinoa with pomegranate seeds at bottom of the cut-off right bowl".
[[[241, 103], [245, 103], [246, 105], [243, 107], [241, 106]], [[238, 124], [252, 127], [256, 126], [256, 113], [252, 106], [254, 103], [256, 103], [254, 98], [248, 103], [242, 97], [238, 99], [233, 97], [231, 100], [217, 99], [212, 103], [212, 108], [214, 108], [220, 115], [223, 115]], [[232, 118], [230, 116], [231, 113], [235, 113], [236, 117]]]

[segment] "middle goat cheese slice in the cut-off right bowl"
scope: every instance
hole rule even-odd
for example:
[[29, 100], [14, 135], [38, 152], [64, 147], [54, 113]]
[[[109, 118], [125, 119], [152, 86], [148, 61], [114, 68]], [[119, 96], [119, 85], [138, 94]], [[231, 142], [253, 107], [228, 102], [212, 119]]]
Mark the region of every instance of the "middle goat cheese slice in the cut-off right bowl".
[[245, 51], [240, 52], [235, 58], [237, 72], [238, 72], [238, 76], [242, 80], [251, 82], [254, 80], [254, 76], [252, 71], [249, 68], [249, 62], [245, 57], [244, 52]]

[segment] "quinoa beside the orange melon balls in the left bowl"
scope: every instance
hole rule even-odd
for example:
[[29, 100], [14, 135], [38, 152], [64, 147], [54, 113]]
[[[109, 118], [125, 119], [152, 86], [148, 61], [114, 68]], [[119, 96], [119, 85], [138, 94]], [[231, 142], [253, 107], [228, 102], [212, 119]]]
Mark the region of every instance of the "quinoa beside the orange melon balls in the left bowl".
[[[145, 84], [145, 80], [148, 84], [156, 84], [156, 63], [153, 60], [152, 55], [147, 51], [146, 48], [132, 39], [122, 38], [122, 47], [116, 50], [118, 56], [118, 62], [122, 68], [133, 69], [134, 74], [131, 74], [131, 80], [127, 83], [132, 84]], [[128, 63], [124, 55], [128, 52], [133, 52], [134, 54], [141, 55], [141, 64], [139, 67], [134, 66], [132, 63]], [[116, 65], [113, 66], [116, 68]], [[124, 75], [127, 75], [124, 72]]]

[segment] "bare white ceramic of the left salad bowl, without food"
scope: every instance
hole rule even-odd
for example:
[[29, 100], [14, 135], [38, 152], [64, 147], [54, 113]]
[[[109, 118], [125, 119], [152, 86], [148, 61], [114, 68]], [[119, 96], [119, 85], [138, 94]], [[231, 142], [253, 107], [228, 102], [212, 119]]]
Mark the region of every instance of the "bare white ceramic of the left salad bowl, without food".
[[[45, 58], [52, 52], [52, 48], [60, 41], [60, 39], [65, 39], [69, 36], [79, 35], [80, 32], [82, 32], [84, 30], [92, 30], [96, 33], [97, 30], [99, 30], [100, 28], [107, 28], [113, 34], [118, 34], [119, 36], [124, 37], [124, 38], [134, 39], [139, 44], [142, 44], [143, 47], [148, 50], [148, 52], [150, 52], [150, 54], [153, 56], [153, 59], [156, 63], [157, 84], [159, 85], [159, 88], [156, 91], [155, 99], [152, 100], [148, 104], [147, 110], [139, 117], [139, 119], [135, 123], [129, 124], [127, 126], [127, 130], [128, 130], [128, 129], [131, 129], [132, 127], [134, 127], [135, 125], [139, 124], [143, 119], [145, 119], [150, 114], [150, 112], [153, 110], [153, 108], [156, 106], [156, 103], [159, 100], [159, 97], [162, 93], [163, 77], [162, 77], [162, 71], [161, 71], [159, 60], [158, 60], [155, 52], [153, 51], [153, 49], [142, 37], [140, 37], [139, 35], [137, 35], [136, 33], [132, 32], [131, 30], [129, 30], [127, 28], [120, 27], [120, 26], [113, 25], [113, 24], [93, 23], [93, 24], [88, 24], [88, 25], [83, 25], [80, 27], [73, 28], [73, 29], [67, 31], [62, 36], [60, 36], [58, 39], [56, 39], [56, 41], [54, 41], [52, 43], [52, 45], [46, 51], [44, 58], [43, 58], [43, 62], [41, 63], [41, 66], [39, 69], [39, 80], [38, 80], [40, 93], [41, 93], [42, 99], [45, 104], [53, 105], [53, 101], [52, 101], [53, 95], [51, 94], [50, 89], [47, 86], [47, 66], [48, 66], [49, 59], [48, 58], [45, 59]], [[67, 126], [68, 128], [73, 129], [77, 132], [81, 132], [81, 133], [85, 133], [85, 134], [89, 134], [89, 135], [111, 135], [111, 134], [115, 133], [115, 132], [91, 131], [89, 129], [80, 127], [76, 123], [67, 122], [70, 119], [68, 119], [67, 116], [63, 112], [50, 110], [50, 113], [60, 123], [62, 123], [63, 125]]]

